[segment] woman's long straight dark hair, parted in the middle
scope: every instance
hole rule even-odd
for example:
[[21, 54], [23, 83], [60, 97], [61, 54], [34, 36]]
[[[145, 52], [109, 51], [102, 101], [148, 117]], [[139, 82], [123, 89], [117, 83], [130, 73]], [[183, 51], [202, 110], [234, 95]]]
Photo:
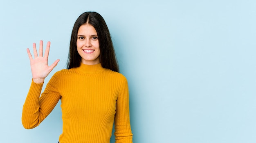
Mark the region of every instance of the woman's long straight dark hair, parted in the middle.
[[70, 51], [67, 59], [67, 69], [79, 67], [81, 64], [81, 56], [77, 52], [76, 47], [77, 32], [79, 27], [86, 23], [93, 26], [97, 32], [99, 38], [99, 56], [101, 66], [107, 69], [111, 69], [114, 72], [119, 72], [119, 66], [117, 63], [115, 50], [110, 36], [110, 32], [108, 30], [108, 26], [99, 13], [90, 11], [81, 14], [74, 24], [70, 39]]

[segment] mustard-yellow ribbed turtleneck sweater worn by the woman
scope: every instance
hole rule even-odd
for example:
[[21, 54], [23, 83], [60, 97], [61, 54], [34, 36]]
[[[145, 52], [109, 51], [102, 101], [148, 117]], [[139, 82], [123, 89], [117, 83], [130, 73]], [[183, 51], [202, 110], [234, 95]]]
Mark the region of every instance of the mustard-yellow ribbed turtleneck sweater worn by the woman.
[[32, 81], [22, 111], [24, 128], [38, 126], [61, 99], [60, 143], [110, 143], [115, 121], [116, 143], [132, 143], [126, 78], [97, 65], [56, 72], [43, 84]]

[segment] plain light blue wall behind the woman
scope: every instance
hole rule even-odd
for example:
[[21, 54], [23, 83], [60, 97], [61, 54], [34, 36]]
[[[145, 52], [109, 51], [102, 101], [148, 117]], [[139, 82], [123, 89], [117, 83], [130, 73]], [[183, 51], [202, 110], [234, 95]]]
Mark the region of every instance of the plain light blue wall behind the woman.
[[[51, 41], [65, 68], [76, 18], [97, 11], [130, 88], [134, 143], [256, 142], [255, 0], [1, 0], [0, 143], [56, 143], [60, 103], [25, 130], [26, 48]], [[112, 140], [111, 143], [114, 143]]]

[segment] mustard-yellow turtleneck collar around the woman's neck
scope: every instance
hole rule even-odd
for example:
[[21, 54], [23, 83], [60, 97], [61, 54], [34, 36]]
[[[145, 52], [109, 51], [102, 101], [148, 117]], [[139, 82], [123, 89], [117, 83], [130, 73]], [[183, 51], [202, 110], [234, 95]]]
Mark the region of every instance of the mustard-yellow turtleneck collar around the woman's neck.
[[77, 69], [86, 74], [97, 74], [105, 70], [105, 68], [101, 66], [101, 63], [96, 65], [85, 65], [81, 63], [80, 67], [77, 67]]

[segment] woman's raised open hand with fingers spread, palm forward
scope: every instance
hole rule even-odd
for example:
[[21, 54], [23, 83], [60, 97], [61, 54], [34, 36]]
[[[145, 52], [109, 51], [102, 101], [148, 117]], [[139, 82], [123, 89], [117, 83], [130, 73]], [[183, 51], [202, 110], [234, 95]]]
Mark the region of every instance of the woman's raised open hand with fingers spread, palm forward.
[[33, 81], [36, 83], [43, 83], [46, 76], [48, 76], [48, 74], [52, 72], [52, 69], [58, 64], [58, 61], [60, 61], [58, 59], [54, 61], [52, 65], [48, 66], [48, 55], [50, 50], [50, 44], [51, 44], [50, 42], [47, 42], [45, 55], [43, 56], [43, 41], [41, 40], [39, 45], [39, 56], [38, 56], [37, 50], [36, 50], [36, 43], [33, 43], [34, 59], [29, 51], [29, 48], [27, 48], [27, 54], [30, 60], [32, 78], [33, 78]]

